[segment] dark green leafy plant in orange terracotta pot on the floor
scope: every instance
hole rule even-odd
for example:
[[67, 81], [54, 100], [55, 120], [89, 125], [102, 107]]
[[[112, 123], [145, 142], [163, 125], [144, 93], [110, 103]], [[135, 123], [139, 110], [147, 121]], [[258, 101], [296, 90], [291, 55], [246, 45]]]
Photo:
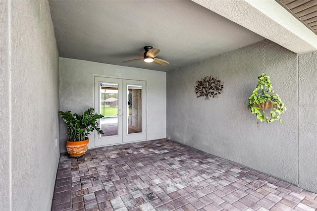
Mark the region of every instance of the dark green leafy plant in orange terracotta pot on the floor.
[[61, 115], [68, 129], [66, 149], [71, 157], [80, 157], [86, 153], [89, 144], [88, 135], [90, 132], [97, 130], [98, 133], [104, 134], [98, 127], [99, 124], [97, 121], [104, 116], [97, 114], [92, 107], [82, 114], [72, 114], [71, 111], [59, 111], [58, 113]]

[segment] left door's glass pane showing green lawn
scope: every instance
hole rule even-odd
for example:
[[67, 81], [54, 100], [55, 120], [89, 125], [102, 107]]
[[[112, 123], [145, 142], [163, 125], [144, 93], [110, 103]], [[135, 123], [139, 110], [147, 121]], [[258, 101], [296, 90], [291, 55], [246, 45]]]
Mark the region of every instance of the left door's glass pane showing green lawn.
[[101, 129], [105, 136], [118, 135], [118, 84], [102, 83], [100, 89]]

